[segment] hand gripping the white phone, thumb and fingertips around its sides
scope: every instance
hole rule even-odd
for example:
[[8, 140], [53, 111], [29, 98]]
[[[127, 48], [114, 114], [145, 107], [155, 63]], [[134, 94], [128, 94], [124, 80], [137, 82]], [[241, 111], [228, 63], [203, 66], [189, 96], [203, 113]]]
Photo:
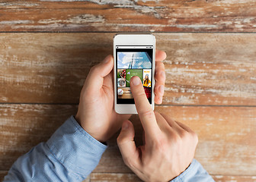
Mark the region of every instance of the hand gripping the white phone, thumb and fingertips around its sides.
[[[165, 67], [162, 61], [165, 52], [155, 52], [155, 103], [162, 103], [165, 86]], [[92, 137], [100, 142], [107, 141], [120, 129], [130, 115], [119, 115], [114, 111], [112, 55], [104, 58], [101, 64], [91, 68], [82, 88], [76, 121]]]

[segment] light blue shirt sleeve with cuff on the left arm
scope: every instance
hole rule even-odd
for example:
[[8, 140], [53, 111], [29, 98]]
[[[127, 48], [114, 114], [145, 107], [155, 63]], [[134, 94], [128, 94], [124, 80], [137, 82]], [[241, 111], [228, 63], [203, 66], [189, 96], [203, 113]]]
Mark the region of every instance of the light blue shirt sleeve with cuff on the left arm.
[[71, 117], [50, 140], [18, 158], [4, 181], [82, 181], [105, 149]]

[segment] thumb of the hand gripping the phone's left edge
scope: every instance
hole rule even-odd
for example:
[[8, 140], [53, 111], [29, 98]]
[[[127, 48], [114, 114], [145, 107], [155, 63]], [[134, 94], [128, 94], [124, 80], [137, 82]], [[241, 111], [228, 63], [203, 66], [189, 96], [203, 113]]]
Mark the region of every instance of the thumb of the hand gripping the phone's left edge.
[[85, 89], [88, 93], [98, 93], [101, 89], [104, 77], [107, 74], [110, 74], [110, 71], [113, 69], [113, 56], [107, 55], [100, 64], [95, 65], [91, 68], [91, 71], [88, 74], [88, 77], [85, 81]]

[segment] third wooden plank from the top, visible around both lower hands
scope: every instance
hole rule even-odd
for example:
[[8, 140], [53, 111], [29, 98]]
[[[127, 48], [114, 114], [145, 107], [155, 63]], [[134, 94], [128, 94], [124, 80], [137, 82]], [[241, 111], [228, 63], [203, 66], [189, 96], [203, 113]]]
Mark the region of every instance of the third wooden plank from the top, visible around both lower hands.
[[[210, 174], [254, 175], [256, 158], [255, 107], [157, 106], [198, 133], [196, 158]], [[47, 138], [76, 105], [0, 105], [0, 170], [6, 171], [18, 156]], [[142, 127], [136, 116], [136, 141], [142, 143]], [[108, 142], [94, 172], [130, 173], [123, 164], [116, 137]]]

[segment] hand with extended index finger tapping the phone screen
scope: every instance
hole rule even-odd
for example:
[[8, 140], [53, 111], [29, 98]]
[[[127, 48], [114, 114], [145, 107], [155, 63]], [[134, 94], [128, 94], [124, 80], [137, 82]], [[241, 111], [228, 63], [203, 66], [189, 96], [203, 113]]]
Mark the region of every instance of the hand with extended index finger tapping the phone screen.
[[139, 77], [131, 79], [131, 90], [145, 131], [145, 144], [136, 148], [134, 127], [124, 121], [117, 144], [125, 164], [144, 181], [168, 181], [192, 162], [197, 134], [167, 115], [152, 111]]

